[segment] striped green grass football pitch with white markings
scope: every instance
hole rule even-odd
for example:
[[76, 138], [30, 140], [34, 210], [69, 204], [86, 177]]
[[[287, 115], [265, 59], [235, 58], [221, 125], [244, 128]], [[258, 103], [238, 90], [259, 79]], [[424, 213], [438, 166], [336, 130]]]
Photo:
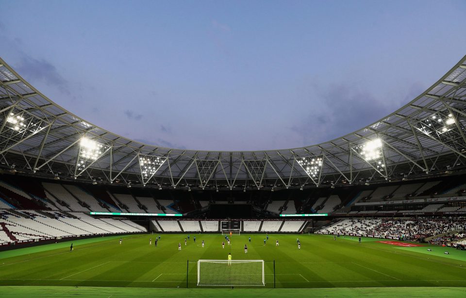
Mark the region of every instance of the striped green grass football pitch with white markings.
[[74, 241], [72, 252], [69, 242], [3, 251], [0, 285], [205, 289], [197, 286], [196, 262], [231, 253], [233, 260], [266, 261], [261, 288], [466, 287], [466, 251], [452, 248], [314, 234], [269, 234], [264, 244], [264, 233], [233, 235], [222, 248], [221, 234], [190, 234], [186, 246], [187, 234], [160, 236], [157, 247], [156, 234], [138, 234], [123, 236], [121, 245], [119, 236]]

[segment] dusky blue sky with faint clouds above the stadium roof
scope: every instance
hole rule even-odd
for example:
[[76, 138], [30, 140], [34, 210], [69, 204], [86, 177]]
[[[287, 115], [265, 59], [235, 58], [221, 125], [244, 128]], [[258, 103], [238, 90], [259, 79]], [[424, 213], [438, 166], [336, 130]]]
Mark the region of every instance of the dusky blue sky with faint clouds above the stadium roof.
[[466, 1], [0, 0], [0, 57], [51, 100], [181, 149], [314, 145], [466, 54]]

